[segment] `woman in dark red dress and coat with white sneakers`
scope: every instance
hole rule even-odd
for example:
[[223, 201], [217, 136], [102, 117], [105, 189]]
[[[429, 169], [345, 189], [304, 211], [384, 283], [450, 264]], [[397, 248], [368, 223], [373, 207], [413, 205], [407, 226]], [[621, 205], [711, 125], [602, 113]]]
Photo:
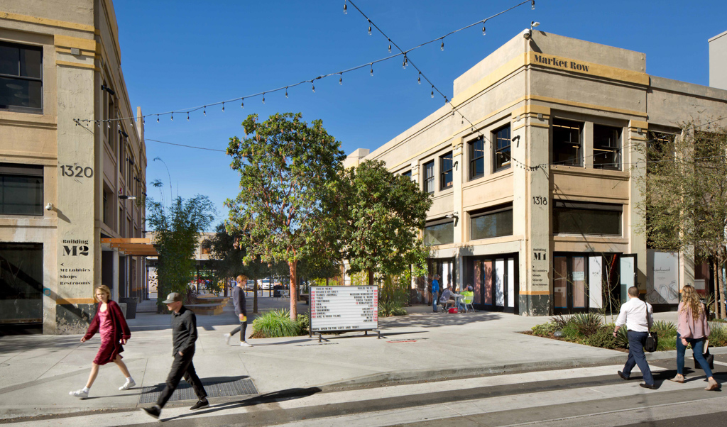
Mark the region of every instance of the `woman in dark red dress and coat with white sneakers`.
[[129, 341], [132, 333], [129, 330], [129, 325], [126, 325], [126, 319], [124, 314], [121, 314], [119, 304], [111, 301], [111, 290], [105, 285], [100, 285], [95, 290], [96, 300], [98, 301], [98, 307], [96, 314], [93, 317], [89, 329], [81, 338], [81, 343], [86, 342], [97, 332], [101, 336], [101, 347], [98, 349], [96, 358], [93, 359], [91, 365], [91, 375], [89, 375], [89, 381], [83, 389], [71, 391], [71, 396], [78, 397], [79, 399], [86, 399], [89, 397], [89, 389], [93, 385], [98, 375], [98, 367], [100, 365], [106, 365], [108, 362], [116, 363], [121, 373], [126, 377], [126, 383], [119, 387], [119, 390], [128, 390], [133, 386], [136, 386], [134, 378], [129, 374], [129, 370], [126, 369], [126, 365], [121, 360], [121, 351], [124, 351], [124, 347], [121, 344], [125, 344]]

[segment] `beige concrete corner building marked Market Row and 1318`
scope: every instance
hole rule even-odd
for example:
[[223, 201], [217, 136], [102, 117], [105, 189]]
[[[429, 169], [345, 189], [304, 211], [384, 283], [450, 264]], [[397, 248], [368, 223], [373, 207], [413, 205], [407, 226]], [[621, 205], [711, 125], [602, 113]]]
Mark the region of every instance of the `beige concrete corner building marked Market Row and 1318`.
[[634, 284], [668, 309], [700, 280], [637, 231], [635, 145], [727, 115], [727, 91], [649, 76], [640, 52], [526, 31], [459, 76], [451, 102], [363, 159], [432, 194], [423, 236], [445, 287], [547, 315], [601, 309]]

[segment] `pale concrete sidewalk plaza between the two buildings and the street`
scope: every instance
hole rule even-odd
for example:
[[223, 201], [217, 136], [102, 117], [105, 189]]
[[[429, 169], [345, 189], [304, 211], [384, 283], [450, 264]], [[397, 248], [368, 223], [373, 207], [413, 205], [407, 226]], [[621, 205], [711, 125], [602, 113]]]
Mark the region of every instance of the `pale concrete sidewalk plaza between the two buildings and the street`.
[[[252, 313], [252, 298], [247, 300]], [[286, 299], [259, 298], [260, 311], [288, 306]], [[308, 306], [301, 303], [299, 313]], [[409, 309], [404, 317], [379, 320], [385, 338], [375, 333], [347, 333], [249, 340], [251, 348], [225, 346], [222, 333], [238, 325], [231, 305], [219, 316], [198, 316], [199, 338], [194, 362], [198, 375], [218, 382], [250, 378], [257, 392], [318, 387], [337, 389], [382, 381], [427, 381], [469, 375], [523, 372], [587, 364], [625, 362], [622, 351], [595, 349], [574, 343], [518, 333], [548, 317], [475, 312], [433, 314], [430, 306]], [[252, 316], [250, 316], [252, 317]], [[675, 321], [675, 313], [657, 320]], [[129, 320], [132, 338], [124, 361], [137, 386], [119, 391], [119, 369], [101, 367], [89, 399], [68, 396], [87, 381], [98, 349], [98, 336], [80, 343], [81, 336], [6, 336], [0, 338], [0, 419], [137, 407], [142, 387], [164, 383], [172, 362], [169, 315], [138, 313]], [[252, 328], [248, 328], [248, 334]], [[715, 349], [715, 352], [727, 352]], [[674, 351], [650, 354], [650, 359], [675, 358]], [[172, 404], [174, 402], [170, 402]], [[147, 404], [142, 404], [146, 406]]]

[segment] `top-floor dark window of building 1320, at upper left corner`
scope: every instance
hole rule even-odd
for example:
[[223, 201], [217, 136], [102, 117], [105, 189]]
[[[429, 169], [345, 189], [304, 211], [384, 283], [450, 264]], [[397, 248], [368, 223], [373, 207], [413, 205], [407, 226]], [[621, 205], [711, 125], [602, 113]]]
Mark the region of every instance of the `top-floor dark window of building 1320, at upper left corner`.
[[0, 42], [0, 108], [43, 109], [43, 49]]

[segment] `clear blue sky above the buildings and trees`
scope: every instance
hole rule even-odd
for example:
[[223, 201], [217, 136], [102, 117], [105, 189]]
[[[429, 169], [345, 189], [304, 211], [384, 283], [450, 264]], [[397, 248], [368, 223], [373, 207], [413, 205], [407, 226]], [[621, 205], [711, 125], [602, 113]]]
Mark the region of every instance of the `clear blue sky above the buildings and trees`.
[[[356, 0], [355, 0], [356, 1]], [[483, 20], [519, 1], [358, 0], [371, 20], [403, 49]], [[185, 110], [225, 99], [275, 89], [336, 73], [387, 57], [388, 42], [343, 0], [336, 1], [188, 1], [117, 0], [121, 67], [134, 107], [145, 114]], [[536, 0], [486, 24], [449, 36], [409, 54], [411, 61], [447, 97], [453, 81], [531, 20], [539, 30], [646, 53], [646, 72], [660, 77], [709, 84], [707, 39], [727, 31], [722, 1], [553, 1]], [[395, 52], [395, 48], [393, 49]], [[283, 92], [222, 107], [148, 118], [145, 137], [182, 145], [225, 150], [230, 137], [242, 137], [240, 123], [257, 113], [300, 112], [320, 118], [348, 154], [374, 150], [443, 105], [431, 87], [417, 85], [417, 71], [401, 58]], [[208, 195], [227, 216], [225, 198], [239, 192], [238, 176], [224, 152], [193, 150], [147, 142], [147, 180], [164, 182], [166, 168], [174, 195]], [[160, 198], [160, 190], [148, 194]]]

